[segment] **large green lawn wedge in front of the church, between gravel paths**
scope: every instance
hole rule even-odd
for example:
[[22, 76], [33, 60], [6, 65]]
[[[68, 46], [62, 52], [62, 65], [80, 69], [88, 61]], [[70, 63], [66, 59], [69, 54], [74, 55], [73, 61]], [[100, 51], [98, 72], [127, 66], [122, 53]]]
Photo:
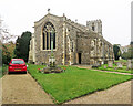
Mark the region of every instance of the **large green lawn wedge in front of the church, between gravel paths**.
[[43, 67], [43, 65], [29, 64], [28, 71], [41, 87], [53, 97], [55, 104], [103, 91], [131, 80], [130, 75], [91, 71], [75, 66], [60, 66], [65, 68], [63, 73], [39, 73], [38, 68]]

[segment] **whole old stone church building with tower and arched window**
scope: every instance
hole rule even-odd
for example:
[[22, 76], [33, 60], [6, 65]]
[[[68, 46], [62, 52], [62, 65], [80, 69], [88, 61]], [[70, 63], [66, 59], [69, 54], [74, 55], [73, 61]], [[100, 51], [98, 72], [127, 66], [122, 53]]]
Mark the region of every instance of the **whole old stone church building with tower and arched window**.
[[102, 35], [102, 21], [86, 21], [86, 25], [48, 13], [34, 22], [30, 41], [29, 62], [49, 64], [51, 31], [55, 64], [104, 64], [114, 60], [113, 46]]

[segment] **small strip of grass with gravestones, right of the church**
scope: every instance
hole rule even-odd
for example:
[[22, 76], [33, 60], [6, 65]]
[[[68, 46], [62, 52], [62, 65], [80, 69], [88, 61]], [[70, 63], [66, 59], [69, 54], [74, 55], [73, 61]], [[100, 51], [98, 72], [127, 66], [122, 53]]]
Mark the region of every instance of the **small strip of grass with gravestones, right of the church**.
[[[106, 66], [106, 68], [104, 68], [104, 66]], [[122, 68], [117, 68], [117, 65], [115, 65], [115, 64], [113, 64], [113, 67], [108, 67], [108, 64], [103, 64], [103, 65], [101, 65], [98, 68], [102, 70], [102, 71], [111, 71], [111, 72], [120, 72], [120, 73], [133, 74], [133, 71], [126, 70], [126, 66], [122, 66]]]

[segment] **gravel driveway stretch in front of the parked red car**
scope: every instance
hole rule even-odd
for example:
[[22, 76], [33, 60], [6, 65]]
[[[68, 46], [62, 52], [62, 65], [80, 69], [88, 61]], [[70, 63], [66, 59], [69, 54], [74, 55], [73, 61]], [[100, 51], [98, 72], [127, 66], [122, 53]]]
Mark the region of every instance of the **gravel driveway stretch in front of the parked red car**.
[[30, 74], [2, 77], [2, 104], [53, 104]]

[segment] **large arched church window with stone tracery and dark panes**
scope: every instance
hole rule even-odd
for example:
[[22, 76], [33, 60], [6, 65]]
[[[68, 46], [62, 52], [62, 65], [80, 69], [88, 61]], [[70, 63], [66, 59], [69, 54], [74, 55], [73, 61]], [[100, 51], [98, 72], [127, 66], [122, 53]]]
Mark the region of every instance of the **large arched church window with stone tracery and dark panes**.
[[55, 29], [51, 22], [47, 22], [43, 28], [43, 50], [51, 50], [51, 33], [53, 31], [53, 49], [55, 49]]

